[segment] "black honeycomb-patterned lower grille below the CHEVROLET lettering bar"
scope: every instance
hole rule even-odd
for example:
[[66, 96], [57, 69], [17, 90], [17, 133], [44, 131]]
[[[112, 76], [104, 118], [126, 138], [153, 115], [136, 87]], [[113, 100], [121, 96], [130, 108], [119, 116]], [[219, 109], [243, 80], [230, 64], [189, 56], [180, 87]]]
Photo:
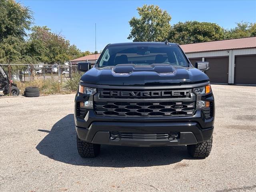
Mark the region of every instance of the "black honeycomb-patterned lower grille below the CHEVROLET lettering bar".
[[188, 116], [195, 102], [94, 102], [94, 110], [108, 116]]

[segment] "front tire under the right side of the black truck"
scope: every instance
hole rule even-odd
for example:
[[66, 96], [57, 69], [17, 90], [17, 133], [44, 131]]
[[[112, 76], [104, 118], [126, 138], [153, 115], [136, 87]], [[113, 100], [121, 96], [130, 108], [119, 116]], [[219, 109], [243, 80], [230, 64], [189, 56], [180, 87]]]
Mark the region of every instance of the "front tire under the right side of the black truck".
[[212, 138], [202, 143], [187, 145], [188, 154], [194, 158], [206, 158], [212, 150]]

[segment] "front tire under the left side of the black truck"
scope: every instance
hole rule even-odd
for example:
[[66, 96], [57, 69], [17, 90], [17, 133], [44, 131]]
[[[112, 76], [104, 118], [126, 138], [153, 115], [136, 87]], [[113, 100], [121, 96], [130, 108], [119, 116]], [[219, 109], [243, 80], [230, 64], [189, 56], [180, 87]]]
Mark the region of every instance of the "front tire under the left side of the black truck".
[[82, 158], [92, 158], [98, 156], [100, 154], [100, 145], [92, 144], [83, 140], [80, 140], [78, 136], [76, 136], [76, 144], [79, 155]]

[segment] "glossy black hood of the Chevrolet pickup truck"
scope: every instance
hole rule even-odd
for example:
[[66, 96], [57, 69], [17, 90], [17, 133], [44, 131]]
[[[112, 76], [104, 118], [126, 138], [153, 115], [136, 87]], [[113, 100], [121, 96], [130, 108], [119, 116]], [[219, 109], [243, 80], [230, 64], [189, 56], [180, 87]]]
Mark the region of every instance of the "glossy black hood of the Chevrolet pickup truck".
[[197, 68], [169, 64], [150, 66], [120, 64], [114, 67], [93, 67], [81, 77], [83, 83], [113, 86], [168, 86], [207, 81], [209, 81], [208, 76]]

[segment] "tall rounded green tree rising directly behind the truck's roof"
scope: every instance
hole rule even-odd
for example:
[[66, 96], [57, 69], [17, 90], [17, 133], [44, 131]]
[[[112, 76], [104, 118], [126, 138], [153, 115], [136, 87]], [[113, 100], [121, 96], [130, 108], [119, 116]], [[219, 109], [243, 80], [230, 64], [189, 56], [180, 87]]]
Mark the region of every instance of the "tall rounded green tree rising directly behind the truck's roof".
[[154, 5], [143, 5], [137, 8], [140, 18], [132, 17], [129, 24], [132, 28], [128, 39], [137, 41], [164, 41], [170, 31], [172, 17], [166, 10]]

